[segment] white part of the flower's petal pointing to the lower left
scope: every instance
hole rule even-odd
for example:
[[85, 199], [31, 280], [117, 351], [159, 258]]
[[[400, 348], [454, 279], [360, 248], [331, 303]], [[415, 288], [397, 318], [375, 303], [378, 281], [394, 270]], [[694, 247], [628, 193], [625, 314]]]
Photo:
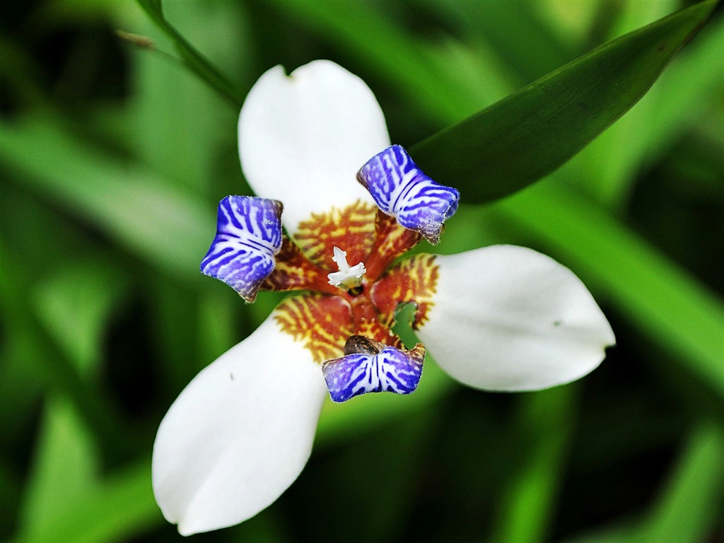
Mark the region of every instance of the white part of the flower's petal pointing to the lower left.
[[327, 387], [274, 313], [203, 369], [161, 421], [153, 492], [182, 535], [245, 521], [306, 464]]

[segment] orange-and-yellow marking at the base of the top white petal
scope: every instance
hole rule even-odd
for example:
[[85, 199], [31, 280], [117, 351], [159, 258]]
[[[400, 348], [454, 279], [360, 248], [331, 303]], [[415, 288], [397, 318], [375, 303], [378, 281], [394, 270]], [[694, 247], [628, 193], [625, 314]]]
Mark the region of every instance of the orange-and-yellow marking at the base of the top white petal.
[[345, 209], [312, 214], [300, 223], [294, 235], [301, 251], [317, 266], [337, 271], [332, 261], [334, 247], [347, 251], [347, 259], [355, 265], [368, 255], [375, 236], [376, 206], [357, 201]]

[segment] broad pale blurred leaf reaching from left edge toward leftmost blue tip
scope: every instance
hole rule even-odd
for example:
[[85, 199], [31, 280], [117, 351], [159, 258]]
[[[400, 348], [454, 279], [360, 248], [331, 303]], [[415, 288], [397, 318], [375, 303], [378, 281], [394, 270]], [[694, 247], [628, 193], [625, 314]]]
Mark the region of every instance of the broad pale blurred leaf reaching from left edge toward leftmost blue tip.
[[62, 201], [161, 269], [198, 279], [215, 224], [211, 205], [85, 145], [48, 119], [0, 122], [0, 131], [0, 160], [24, 186]]

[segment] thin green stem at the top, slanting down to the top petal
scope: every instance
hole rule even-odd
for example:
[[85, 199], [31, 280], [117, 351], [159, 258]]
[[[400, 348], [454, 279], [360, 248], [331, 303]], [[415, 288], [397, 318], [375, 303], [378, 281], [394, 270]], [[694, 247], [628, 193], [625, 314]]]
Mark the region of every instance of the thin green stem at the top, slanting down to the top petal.
[[237, 109], [241, 108], [241, 104], [244, 100], [244, 95], [241, 90], [231, 83], [219, 69], [211, 64], [209, 59], [206, 59], [201, 53], [199, 53], [194, 47], [186, 41], [186, 39], [174, 28], [164, 17], [164, 13], [161, 9], [161, 0], [136, 0], [138, 5], [151, 18], [153, 24], [155, 24], [161, 32], [163, 32], [169, 40], [173, 43], [174, 48], [181, 57], [183, 63], [194, 72], [201, 80], [206, 81], [211, 88], [214, 88], [224, 98], [227, 98]]

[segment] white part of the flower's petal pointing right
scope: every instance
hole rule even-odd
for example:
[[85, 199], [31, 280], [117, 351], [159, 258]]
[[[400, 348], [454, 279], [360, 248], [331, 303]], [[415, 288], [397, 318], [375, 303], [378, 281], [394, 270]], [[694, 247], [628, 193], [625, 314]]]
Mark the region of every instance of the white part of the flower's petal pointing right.
[[438, 256], [434, 305], [418, 336], [463, 384], [539, 390], [578, 379], [615, 338], [571, 270], [541, 253], [494, 245]]

